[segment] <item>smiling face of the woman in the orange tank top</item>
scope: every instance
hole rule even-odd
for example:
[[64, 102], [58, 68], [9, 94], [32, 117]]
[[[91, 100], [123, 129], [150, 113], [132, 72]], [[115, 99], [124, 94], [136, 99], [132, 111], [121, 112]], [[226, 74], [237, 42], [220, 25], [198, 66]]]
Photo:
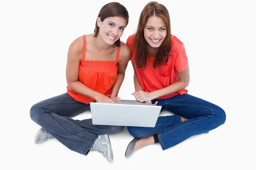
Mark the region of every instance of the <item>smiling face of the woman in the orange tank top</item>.
[[102, 40], [109, 45], [113, 45], [122, 36], [127, 21], [123, 17], [108, 17], [101, 21], [98, 17], [97, 24]]

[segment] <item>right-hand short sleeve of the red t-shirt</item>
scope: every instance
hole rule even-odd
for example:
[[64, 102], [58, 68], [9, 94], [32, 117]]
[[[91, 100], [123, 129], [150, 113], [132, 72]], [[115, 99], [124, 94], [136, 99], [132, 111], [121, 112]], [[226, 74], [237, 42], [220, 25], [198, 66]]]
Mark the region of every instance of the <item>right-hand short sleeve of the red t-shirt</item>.
[[177, 49], [174, 67], [177, 72], [181, 72], [185, 70], [188, 64], [188, 58], [186, 56], [184, 44], [182, 43]]

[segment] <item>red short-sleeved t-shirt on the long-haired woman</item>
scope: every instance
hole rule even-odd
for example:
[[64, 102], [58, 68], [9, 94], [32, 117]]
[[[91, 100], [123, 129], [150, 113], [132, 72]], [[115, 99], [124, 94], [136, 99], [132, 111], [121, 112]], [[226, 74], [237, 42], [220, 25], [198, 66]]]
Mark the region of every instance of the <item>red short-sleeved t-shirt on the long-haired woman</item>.
[[[188, 58], [186, 56], [186, 51], [183, 45], [177, 37], [172, 35], [172, 49], [170, 51], [171, 57], [169, 57], [167, 63], [163, 63], [158, 68], [153, 68], [153, 62], [155, 57], [148, 57], [147, 67], [142, 70], [136, 68], [138, 79], [143, 91], [150, 93], [152, 91], [157, 91], [162, 88], [177, 82], [179, 80], [177, 72], [183, 71], [188, 65]], [[135, 49], [133, 47], [134, 34], [130, 35], [126, 41], [126, 44], [131, 48], [132, 56], [131, 61], [134, 61]], [[177, 94], [186, 94], [187, 90], [184, 88], [173, 94], [168, 94], [166, 96], [158, 97], [157, 99], [167, 99]]]

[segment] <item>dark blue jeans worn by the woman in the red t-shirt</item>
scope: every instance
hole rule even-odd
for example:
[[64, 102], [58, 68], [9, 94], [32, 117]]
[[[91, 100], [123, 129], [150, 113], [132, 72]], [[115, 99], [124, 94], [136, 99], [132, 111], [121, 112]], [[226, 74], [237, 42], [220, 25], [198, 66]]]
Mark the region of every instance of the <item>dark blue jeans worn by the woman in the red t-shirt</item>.
[[[169, 99], [154, 99], [162, 110], [176, 115], [160, 116], [155, 127], [128, 127], [129, 133], [137, 138], [157, 134], [163, 150], [166, 150], [191, 136], [213, 130], [226, 121], [223, 109], [189, 94], [173, 96]], [[181, 122], [180, 116], [187, 118]]]

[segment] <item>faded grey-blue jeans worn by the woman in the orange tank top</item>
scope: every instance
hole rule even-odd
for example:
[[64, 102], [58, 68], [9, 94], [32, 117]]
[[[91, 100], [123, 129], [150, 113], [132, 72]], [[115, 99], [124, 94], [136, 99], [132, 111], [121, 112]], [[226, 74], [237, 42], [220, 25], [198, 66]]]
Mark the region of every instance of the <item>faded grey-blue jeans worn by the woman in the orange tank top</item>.
[[33, 105], [30, 117], [70, 150], [87, 155], [98, 135], [124, 129], [123, 126], [93, 125], [92, 119], [70, 118], [87, 110], [90, 104], [77, 102], [65, 93]]

